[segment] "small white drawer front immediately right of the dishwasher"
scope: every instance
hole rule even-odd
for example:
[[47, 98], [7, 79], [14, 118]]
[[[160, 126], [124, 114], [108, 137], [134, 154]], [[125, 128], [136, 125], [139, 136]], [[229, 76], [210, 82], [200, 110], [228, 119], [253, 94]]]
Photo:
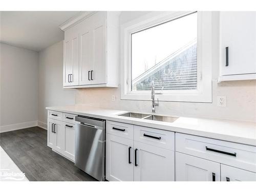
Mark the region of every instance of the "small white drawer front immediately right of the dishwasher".
[[134, 125], [132, 124], [106, 121], [106, 133], [127, 139], [133, 139], [133, 127]]

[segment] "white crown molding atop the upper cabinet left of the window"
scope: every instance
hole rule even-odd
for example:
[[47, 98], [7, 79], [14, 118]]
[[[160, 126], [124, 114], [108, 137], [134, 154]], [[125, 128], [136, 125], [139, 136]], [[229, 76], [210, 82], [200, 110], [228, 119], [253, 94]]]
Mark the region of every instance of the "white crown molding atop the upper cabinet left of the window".
[[96, 11], [81, 11], [77, 15], [73, 16], [72, 18], [61, 24], [59, 28], [62, 31], [66, 31], [67, 29], [73, 27], [74, 25], [78, 24], [82, 20], [92, 16], [95, 13]]

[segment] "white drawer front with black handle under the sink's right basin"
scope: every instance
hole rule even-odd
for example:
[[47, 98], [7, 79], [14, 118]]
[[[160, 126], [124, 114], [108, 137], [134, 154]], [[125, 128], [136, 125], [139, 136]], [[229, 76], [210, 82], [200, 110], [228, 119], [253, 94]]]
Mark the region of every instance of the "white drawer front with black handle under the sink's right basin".
[[135, 125], [134, 140], [174, 151], [174, 132]]

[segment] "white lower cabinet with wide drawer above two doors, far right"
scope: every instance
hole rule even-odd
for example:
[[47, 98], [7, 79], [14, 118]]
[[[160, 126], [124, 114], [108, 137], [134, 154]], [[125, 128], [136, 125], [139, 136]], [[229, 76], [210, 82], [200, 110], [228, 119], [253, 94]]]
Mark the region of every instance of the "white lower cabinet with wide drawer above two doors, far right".
[[255, 146], [180, 133], [175, 137], [177, 181], [256, 181]]

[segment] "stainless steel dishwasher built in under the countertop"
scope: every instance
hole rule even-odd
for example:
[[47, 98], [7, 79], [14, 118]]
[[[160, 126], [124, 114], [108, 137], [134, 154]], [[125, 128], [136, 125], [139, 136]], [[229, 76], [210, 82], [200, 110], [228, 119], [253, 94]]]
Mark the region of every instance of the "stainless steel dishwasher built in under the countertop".
[[105, 120], [76, 116], [75, 166], [105, 180]]

